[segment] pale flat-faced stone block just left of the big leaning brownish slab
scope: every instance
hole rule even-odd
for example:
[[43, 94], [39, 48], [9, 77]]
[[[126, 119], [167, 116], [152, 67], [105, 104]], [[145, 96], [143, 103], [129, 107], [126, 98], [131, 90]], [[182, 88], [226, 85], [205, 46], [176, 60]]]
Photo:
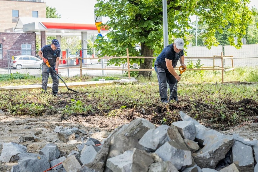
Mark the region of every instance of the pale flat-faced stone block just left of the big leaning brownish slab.
[[92, 162], [97, 155], [98, 151], [100, 150], [100, 147], [90, 145], [90, 146], [84, 146], [84, 148], [81, 151], [81, 163], [82, 164], [88, 164]]

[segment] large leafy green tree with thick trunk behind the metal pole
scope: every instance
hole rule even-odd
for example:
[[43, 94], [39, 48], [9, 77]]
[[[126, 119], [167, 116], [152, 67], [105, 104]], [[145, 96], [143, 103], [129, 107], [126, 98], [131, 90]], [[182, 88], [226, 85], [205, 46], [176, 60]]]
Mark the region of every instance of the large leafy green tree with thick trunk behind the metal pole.
[[[163, 21], [162, 21], [162, 0], [97, 0], [95, 7], [98, 16], [107, 16], [109, 20], [103, 23], [110, 32], [107, 37], [110, 41], [101, 38], [99, 46], [102, 55], [126, 55], [126, 48], [129, 48], [130, 56], [153, 56], [154, 50], [161, 51], [163, 48]], [[233, 45], [233, 34], [237, 35], [237, 48], [241, 47], [241, 38], [246, 33], [246, 26], [251, 21], [251, 12], [246, 6], [249, 0], [167, 0], [168, 30], [169, 37], [181, 37], [185, 40], [189, 34], [187, 29], [190, 15], [202, 17], [199, 23], [208, 25], [204, 42], [208, 48], [218, 45], [215, 38], [217, 30], [232, 23], [229, 31], [230, 44]], [[99, 41], [99, 40], [97, 40]], [[105, 44], [104, 44], [105, 43]], [[141, 43], [141, 50], [134, 48], [135, 44]], [[112, 49], [112, 50], [111, 50]], [[118, 59], [121, 61], [121, 59]], [[152, 68], [152, 59], [141, 59], [140, 69]], [[113, 63], [117, 64], [115, 61]], [[151, 77], [151, 71], [140, 71], [139, 74]]]

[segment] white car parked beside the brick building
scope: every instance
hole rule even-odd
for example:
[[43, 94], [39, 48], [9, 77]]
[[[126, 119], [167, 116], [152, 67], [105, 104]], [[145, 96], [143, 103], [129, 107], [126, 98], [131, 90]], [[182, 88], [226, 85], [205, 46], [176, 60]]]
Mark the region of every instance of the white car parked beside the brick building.
[[43, 60], [32, 55], [16, 55], [11, 60], [11, 67], [16, 69], [22, 68], [42, 68]]

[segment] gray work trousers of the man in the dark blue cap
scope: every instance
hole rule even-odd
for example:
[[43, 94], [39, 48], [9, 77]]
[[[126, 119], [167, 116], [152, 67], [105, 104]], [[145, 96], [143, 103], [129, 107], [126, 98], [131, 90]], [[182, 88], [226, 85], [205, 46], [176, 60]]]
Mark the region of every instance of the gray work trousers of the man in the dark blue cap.
[[[52, 68], [55, 70], [55, 67]], [[59, 84], [58, 76], [55, 74], [54, 71], [52, 71], [48, 66], [45, 65], [42, 66], [42, 91], [45, 93], [47, 92], [49, 74], [51, 74], [51, 78], [53, 80], [52, 94], [56, 95], [58, 93]]]

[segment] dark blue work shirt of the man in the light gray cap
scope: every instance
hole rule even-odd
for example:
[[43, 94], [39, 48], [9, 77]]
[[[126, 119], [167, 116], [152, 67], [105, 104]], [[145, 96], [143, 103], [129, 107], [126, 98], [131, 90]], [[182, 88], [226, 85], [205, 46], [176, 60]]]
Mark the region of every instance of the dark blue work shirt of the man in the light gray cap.
[[[173, 64], [177, 64], [177, 61], [180, 59], [181, 56], [184, 55], [184, 50], [181, 50], [179, 53], [176, 53], [174, 51], [174, 46], [173, 44], [168, 45], [167, 47], [165, 47], [160, 55], [158, 55], [156, 61], [161, 64], [161, 63], [165, 63], [165, 58], [172, 60]], [[174, 65], [173, 65], [174, 67]]]

